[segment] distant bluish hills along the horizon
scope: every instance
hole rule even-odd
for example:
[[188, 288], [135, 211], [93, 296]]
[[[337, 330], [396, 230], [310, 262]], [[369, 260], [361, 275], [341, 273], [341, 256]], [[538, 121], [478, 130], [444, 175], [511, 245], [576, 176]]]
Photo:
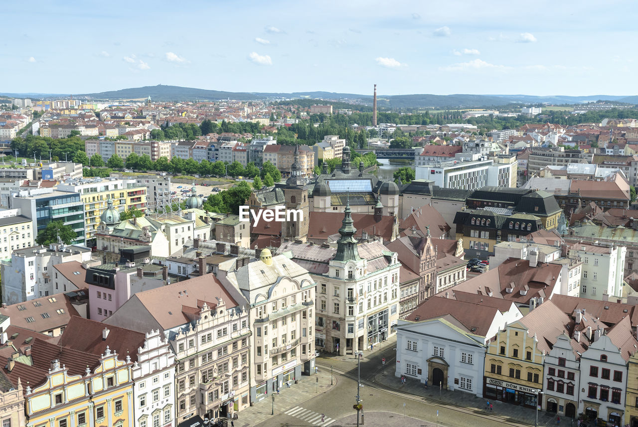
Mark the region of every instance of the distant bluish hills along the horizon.
[[[56, 94], [15, 94], [2, 93], [0, 95], [15, 98], [30, 96], [32, 98], [52, 98]], [[151, 97], [154, 101], [217, 101], [219, 99], [237, 99], [239, 101], [254, 100], [281, 100], [281, 99], [321, 99], [332, 101], [346, 101], [363, 105], [372, 104], [371, 94], [347, 94], [336, 92], [226, 92], [224, 90], [197, 89], [193, 87], [181, 87], [170, 85], [156, 85], [144, 87], [132, 87], [129, 89], [109, 90], [93, 94], [74, 94], [74, 96], [87, 96], [93, 99], [141, 99]], [[533, 96], [533, 95], [473, 95], [473, 94], [409, 94], [409, 95], [379, 95], [378, 105], [387, 108], [484, 108], [508, 105], [510, 103], [552, 103], [552, 104], [579, 104], [604, 99], [607, 101], [619, 101], [623, 103], [638, 104], [638, 96]]]

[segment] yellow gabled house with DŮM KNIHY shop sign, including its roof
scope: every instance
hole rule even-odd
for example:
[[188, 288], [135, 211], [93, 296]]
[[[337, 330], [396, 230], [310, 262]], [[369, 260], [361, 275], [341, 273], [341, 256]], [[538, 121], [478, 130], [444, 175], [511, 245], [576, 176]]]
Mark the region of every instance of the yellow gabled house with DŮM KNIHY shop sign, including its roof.
[[487, 347], [483, 396], [534, 408], [542, 405], [543, 362], [563, 333], [566, 315], [545, 301], [523, 319], [498, 331]]

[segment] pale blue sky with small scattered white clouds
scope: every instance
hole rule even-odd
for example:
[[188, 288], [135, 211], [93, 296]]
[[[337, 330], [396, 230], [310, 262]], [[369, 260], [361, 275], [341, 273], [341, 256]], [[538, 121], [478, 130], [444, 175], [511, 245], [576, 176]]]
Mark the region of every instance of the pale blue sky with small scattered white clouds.
[[633, 1], [3, 4], [0, 92], [634, 95]]

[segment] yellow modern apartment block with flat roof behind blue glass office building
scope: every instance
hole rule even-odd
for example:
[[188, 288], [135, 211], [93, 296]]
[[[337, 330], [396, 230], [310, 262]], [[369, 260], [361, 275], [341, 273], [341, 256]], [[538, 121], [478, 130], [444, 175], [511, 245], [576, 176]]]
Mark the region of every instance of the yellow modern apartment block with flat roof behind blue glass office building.
[[59, 184], [57, 189], [80, 193], [84, 203], [84, 228], [87, 242], [95, 238], [100, 225], [100, 216], [107, 209], [110, 199], [115, 210], [124, 212], [129, 208], [146, 210], [146, 187], [133, 179], [94, 178], [94, 182]]

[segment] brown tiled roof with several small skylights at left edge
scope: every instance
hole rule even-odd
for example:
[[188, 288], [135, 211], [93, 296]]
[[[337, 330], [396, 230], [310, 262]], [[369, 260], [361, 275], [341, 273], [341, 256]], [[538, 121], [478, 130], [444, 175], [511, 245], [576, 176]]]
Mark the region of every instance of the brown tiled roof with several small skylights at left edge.
[[[62, 310], [58, 314], [57, 310]], [[0, 314], [11, 317], [11, 324], [31, 331], [46, 333], [66, 325], [77, 310], [68, 298], [61, 294], [43, 296], [0, 308]]]

